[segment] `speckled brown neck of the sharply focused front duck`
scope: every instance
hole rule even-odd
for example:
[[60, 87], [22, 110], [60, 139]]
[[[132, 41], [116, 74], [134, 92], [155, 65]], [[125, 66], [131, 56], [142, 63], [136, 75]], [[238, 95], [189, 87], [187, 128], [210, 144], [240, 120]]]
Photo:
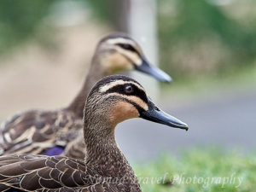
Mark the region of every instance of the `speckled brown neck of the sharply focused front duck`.
[[120, 186], [125, 188], [122, 191], [141, 191], [135, 173], [115, 141], [116, 124], [109, 118], [111, 107], [108, 105], [110, 101], [102, 102], [101, 100], [102, 96], [97, 96], [97, 93], [92, 92], [85, 105], [86, 165], [95, 170], [101, 177], [119, 182]]

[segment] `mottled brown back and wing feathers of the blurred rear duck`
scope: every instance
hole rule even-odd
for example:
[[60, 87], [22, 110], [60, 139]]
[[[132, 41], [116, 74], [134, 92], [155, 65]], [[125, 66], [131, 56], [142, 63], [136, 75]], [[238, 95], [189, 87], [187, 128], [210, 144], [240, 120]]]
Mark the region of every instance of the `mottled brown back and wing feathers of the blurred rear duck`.
[[82, 127], [81, 119], [64, 110], [19, 113], [1, 126], [0, 154], [44, 154], [66, 146]]

